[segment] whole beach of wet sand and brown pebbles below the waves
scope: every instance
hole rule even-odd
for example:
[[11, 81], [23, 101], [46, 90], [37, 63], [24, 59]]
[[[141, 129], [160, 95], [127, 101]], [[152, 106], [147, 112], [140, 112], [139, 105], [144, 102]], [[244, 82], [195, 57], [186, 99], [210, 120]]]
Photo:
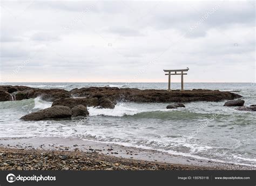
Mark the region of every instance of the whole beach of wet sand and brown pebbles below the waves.
[[58, 137], [0, 139], [0, 170], [255, 170], [255, 167]]

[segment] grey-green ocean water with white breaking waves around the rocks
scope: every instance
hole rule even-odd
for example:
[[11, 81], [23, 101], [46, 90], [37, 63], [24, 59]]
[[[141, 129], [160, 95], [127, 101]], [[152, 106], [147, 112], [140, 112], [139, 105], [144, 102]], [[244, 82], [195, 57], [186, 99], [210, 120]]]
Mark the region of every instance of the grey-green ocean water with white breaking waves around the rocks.
[[[71, 90], [90, 86], [166, 89], [166, 83], [11, 83]], [[251, 83], [186, 83], [185, 89], [236, 92], [245, 105], [256, 104]], [[180, 84], [173, 83], [173, 89]], [[170, 154], [256, 167], [256, 113], [236, 111], [220, 102], [189, 102], [166, 109], [165, 103], [118, 102], [114, 109], [89, 107], [84, 120], [22, 121], [21, 116], [51, 106], [40, 98], [0, 102], [0, 137], [76, 137], [83, 140], [155, 149]]]

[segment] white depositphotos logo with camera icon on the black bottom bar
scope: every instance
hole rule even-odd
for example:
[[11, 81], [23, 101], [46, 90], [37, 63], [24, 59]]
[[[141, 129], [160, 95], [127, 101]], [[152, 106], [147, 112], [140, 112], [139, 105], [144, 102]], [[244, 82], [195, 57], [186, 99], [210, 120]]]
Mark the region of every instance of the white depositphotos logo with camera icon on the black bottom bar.
[[36, 181], [36, 182], [39, 182], [39, 181], [56, 181], [56, 176], [36, 176], [36, 175], [33, 175], [33, 176], [21, 176], [21, 175], [18, 175], [18, 176], [15, 176], [14, 174], [8, 174], [6, 176], [6, 180], [9, 182], [9, 183], [13, 183], [15, 181], [22, 181], [22, 182], [25, 182], [25, 181]]

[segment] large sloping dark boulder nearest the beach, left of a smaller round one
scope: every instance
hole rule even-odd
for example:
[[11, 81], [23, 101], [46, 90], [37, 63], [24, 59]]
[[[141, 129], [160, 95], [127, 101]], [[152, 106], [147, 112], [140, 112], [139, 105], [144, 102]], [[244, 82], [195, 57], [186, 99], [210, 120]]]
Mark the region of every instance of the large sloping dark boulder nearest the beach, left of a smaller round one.
[[62, 119], [71, 118], [72, 112], [66, 106], [54, 106], [43, 110], [33, 112], [23, 116], [21, 119], [25, 121], [38, 121], [45, 119]]

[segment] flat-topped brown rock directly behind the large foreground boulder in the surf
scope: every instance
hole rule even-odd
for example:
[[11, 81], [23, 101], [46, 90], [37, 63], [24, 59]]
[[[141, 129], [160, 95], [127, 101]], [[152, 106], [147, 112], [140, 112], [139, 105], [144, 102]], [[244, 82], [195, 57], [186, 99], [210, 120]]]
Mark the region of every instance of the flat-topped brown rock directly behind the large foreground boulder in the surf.
[[52, 106], [61, 105], [73, 108], [77, 105], [87, 106], [98, 106], [99, 102], [97, 98], [60, 98], [54, 100]]

